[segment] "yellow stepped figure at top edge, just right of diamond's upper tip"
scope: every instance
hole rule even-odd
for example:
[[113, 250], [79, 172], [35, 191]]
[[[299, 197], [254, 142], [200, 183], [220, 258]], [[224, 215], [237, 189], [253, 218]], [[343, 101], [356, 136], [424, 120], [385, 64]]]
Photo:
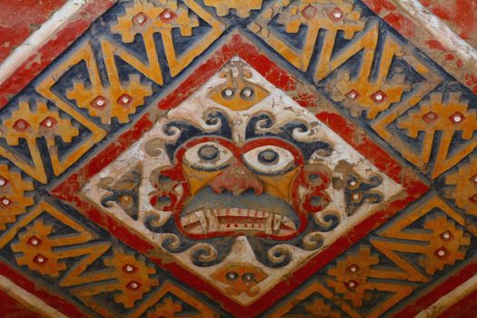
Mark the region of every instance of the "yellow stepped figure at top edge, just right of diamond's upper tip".
[[[290, 39], [297, 35], [302, 25], [306, 26], [303, 46], [297, 48], [293, 42], [283, 40], [277, 32], [277, 25], [270, 25], [273, 19], [284, 28]], [[321, 29], [326, 30], [325, 51], [316, 66], [315, 78], [322, 79], [336, 66], [330, 63], [333, 45], [338, 32], [346, 39], [352, 39], [356, 32], [363, 30], [360, 12], [353, 8], [351, 1], [280, 1], [263, 9], [261, 15], [248, 28], [262, 37], [268, 45], [283, 55], [292, 65], [306, 71], [312, 60], [314, 47]], [[286, 37], [285, 37], [286, 39]], [[334, 62], [334, 61], [333, 61]], [[332, 68], [328, 70], [328, 68]]]

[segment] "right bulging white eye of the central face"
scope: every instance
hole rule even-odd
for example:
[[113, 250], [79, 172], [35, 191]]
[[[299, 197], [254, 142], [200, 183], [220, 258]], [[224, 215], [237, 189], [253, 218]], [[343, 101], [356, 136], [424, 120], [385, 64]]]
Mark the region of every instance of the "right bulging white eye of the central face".
[[259, 174], [283, 174], [294, 166], [293, 154], [274, 145], [254, 148], [243, 154], [243, 160]]

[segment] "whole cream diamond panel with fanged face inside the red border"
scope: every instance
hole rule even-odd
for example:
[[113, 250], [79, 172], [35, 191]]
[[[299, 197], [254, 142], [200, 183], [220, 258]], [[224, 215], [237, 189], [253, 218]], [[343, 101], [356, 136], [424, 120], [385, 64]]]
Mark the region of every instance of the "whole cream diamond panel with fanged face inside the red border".
[[247, 303], [402, 185], [234, 57], [83, 191]]

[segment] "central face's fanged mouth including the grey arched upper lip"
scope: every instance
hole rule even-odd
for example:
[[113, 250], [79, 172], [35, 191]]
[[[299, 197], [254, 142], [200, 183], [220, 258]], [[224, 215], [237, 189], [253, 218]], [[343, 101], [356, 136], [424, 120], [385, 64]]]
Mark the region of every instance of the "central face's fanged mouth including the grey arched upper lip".
[[290, 237], [298, 232], [300, 222], [292, 206], [263, 193], [247, 190], [240, 195], [216, 194], [205, 187], [184, 206], [180, 216], [184, 234], [266, 235]]

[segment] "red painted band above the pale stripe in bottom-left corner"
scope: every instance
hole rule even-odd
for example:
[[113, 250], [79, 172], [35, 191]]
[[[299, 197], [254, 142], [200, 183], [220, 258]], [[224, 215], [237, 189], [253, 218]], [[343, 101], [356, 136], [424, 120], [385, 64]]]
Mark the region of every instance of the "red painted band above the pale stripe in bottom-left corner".
[[74, 303], [65, 300], [57, 294], [51, 293], [50, 290], [43, 285], [33, 283], [33, 281], [15, 271], [6, 263], [0, 262], [0, 273], [12, 280], [19, 287], [25, 289], [28, 293], [33, 293], [36, 297], [55, 308], [58, 312], [65, 313], [67, 317], [89, 317], [89, 315], [84, 313], [84, 311], [78, 308]]

